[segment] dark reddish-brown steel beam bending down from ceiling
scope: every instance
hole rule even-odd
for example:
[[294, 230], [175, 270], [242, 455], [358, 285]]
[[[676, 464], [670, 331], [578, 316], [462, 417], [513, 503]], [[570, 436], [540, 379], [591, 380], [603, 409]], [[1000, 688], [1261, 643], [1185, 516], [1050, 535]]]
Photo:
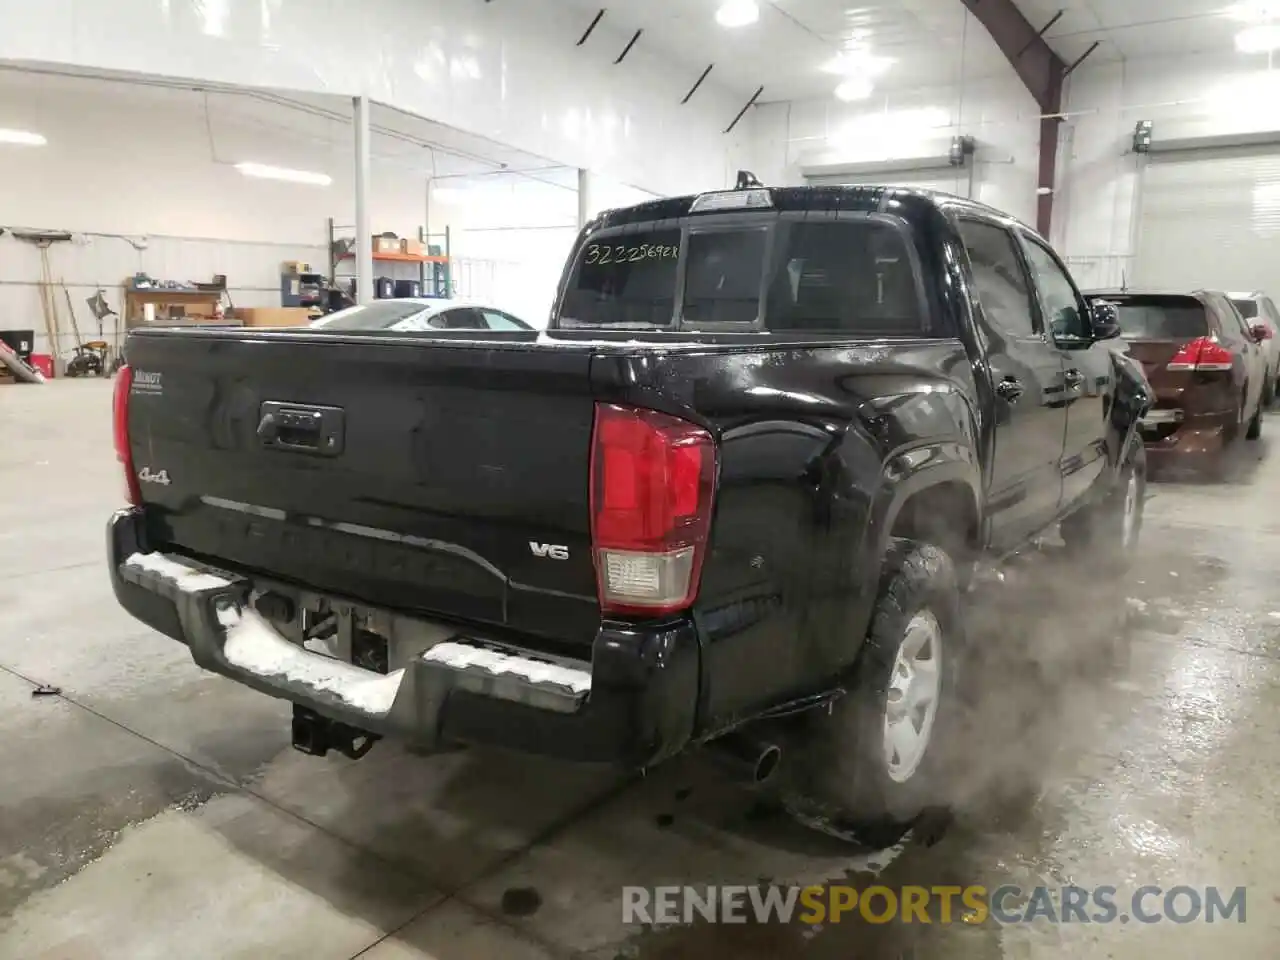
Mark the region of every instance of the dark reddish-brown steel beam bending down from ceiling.
[[1036, 29], [1014, 0], [961, 0], [961, 3], [987, 28], [1041, 109], [1036, 229], [1047, 237], [1053, 221], [1057, 129], [1062, 124], [1062, 81], [1066, 79], [1070, 68], [1050, 49], [1044, 33], [1062, 14], [1059, 13], [1042, 29]]

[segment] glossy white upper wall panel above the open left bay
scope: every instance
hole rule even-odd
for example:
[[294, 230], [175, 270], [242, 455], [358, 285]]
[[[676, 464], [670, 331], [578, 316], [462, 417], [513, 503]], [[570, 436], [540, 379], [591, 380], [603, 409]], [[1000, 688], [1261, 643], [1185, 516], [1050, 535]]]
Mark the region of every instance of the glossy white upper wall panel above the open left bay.
[[724, 186], [745, 96], [559, 0], [0, 0], [0, 61], [357, 95], [645, 189]]

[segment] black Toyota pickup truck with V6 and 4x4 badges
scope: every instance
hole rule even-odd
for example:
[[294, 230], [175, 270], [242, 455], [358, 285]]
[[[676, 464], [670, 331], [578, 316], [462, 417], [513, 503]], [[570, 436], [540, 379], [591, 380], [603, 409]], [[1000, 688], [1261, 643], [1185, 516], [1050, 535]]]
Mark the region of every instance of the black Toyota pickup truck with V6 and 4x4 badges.
[[588, 225], [547, 332], [358, 326], [137, 332], [116, 381], [119, 602], [308, 753], [707, 744], [905, 823], [974, 564], [1138, 536], [1114, 307], [966, 200], [659, 200]]

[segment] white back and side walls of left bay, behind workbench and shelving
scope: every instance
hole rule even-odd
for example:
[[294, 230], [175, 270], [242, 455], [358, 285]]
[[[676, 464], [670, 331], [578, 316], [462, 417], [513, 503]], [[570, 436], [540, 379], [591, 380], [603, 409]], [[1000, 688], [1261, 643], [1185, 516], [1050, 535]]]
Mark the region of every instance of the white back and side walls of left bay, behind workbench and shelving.
[[[344, 109], [334, 99], [334, 108]], [[207, 111], [207, 123], [206, 123]], [[55, 279], [69, 287], [82, 333], [96, 334], [83, 302], [102, 288], [123, 311], [120, 283], [136, 271], [159, 279], [229, 278], [238, 306], [279, 303], [279, 262], [325, 270], [326, 218], [340, 233], [355, 221], [352, 128], [242, 96], [118, 81], [0, 70], [0, 127], [42, 133], [44, 147], [0, 145], [0, 227], [67, 230], [55, 244]], [[431, 180], [429, 151], [374, 134], [371, 221], [375, 232], [413, 237], [430, 214], [431, 242], [451, 234], [458, 297], [492, 302], [544, 325], [577, 233], [577, 172], [540, 166], [526, 174], [452, 175]], [[256, 160], [326, 173], [329, 187], [243, 177]], [[453, 165], [458, 161], [454, 159]], [[653, 195], [591, 175], [589, 214]], [[429, 183], [435, 187], [428, 198]], [[31, 188], [28, 188], [31, 187]], [[106, 236], [110, 234], [110, 236]], [[343, 264], [339, 274], [355, 265]], [[376, 264], [375, 274], [416, 276], [417, 268]], [[33, 329], [46, 352], [35, 247], [0, 237], [0, 329]], [[59, 292], [60, 349], [74, 339]], [[106, 333], [113, 329], [108, 325]]]

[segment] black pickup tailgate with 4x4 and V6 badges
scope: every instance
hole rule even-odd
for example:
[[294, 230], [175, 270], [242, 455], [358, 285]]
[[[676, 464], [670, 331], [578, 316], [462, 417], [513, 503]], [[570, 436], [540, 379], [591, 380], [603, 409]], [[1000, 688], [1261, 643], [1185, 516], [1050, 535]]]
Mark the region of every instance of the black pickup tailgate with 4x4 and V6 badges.
[[128, 360], [154, 549], [594, 637], [590, 348], [147, 332]]

